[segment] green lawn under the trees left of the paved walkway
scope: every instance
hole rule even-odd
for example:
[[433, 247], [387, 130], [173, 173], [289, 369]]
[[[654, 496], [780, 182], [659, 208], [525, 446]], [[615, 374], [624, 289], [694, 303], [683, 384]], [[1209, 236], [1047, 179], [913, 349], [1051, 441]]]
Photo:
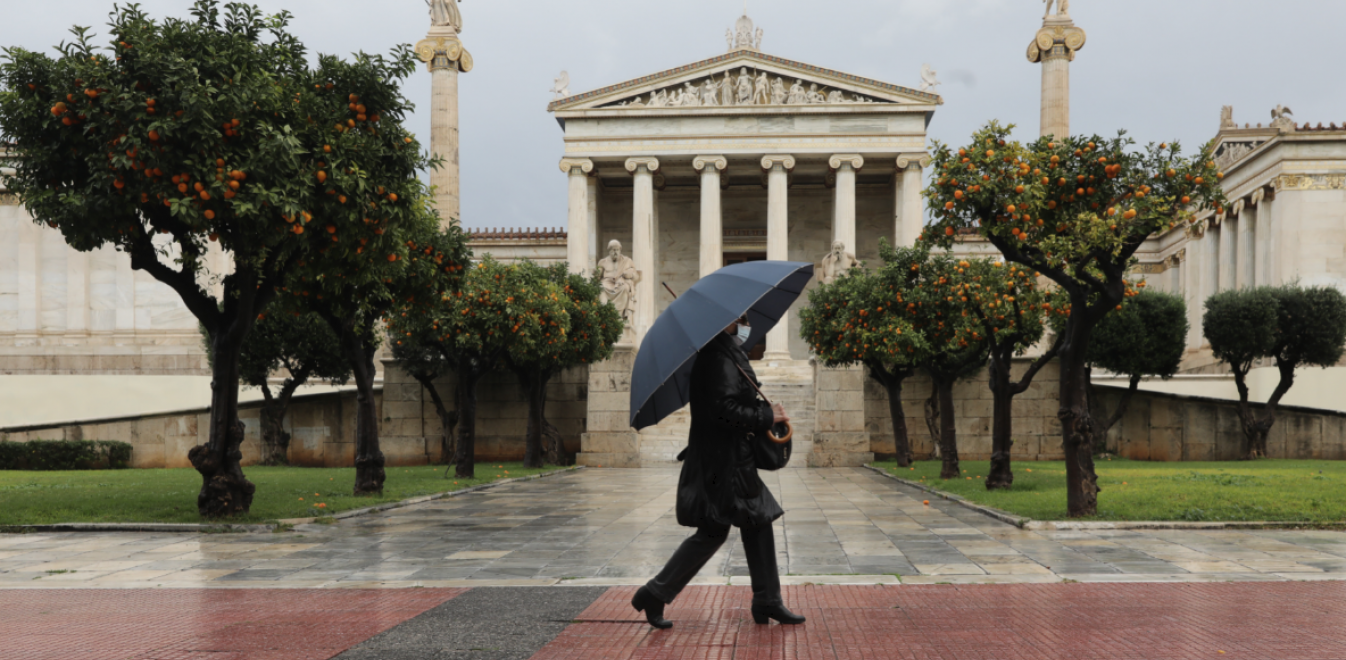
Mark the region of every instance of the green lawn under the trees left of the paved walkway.
[[[232, 523], [312, 517], [541, 471], [478, 463], [475, 480], [444, 478], [444, 466], [388, 467], [381, 497], [354, 497], [354, 467], [244, 467], [257, 485], [252, 512]], [[201, 474], [182, 470], [0, 470], [0, 525], [51, 523], [202, 523]], [[326, 506], [319, 506], [326, 505]]]

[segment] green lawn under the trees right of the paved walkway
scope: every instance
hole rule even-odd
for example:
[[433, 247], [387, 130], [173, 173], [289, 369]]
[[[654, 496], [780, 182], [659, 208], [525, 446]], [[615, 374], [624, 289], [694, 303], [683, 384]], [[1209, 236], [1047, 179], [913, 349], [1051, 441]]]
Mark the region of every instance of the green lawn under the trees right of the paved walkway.
[[[962, 461], [962, 478], [940, 480], [938, 461], [911, 469], [876, 463], [892, 474], [960, 494], [977, 504], [1034, 520], [1066, 520], [1066, 465], [1014, 463], [1014, 489], [988, 492], [991, 463]], [[1094, 520], [1346, 521], [1346, 461], [1253, 461], [1218, 463], [1097, 462]]]

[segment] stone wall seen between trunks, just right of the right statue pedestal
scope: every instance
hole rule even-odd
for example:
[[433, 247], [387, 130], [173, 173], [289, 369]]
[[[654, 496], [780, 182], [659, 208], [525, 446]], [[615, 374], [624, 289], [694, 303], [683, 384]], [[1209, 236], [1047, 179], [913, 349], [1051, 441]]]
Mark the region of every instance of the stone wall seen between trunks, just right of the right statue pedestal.
[[[1012, 366], [1015, 380], [1028, 369], [1028, 360], [1016, 360]], [[1038, 372], [1028, 389], [1014, 399], [1015, 461], [1062, 461], [1059, 409], [1059, 369], [1053, 361]], [[934, 455], [934, 439], [925, 423], [925, 401], [930, 397], [930, 377], [918, 372], [903, 384], [902, 411], [907, 420], [907, 436], [917, 458]], [[954, 428], [958, 431], [958, 458], [968, 461], [991, 459], [991, 388], [987, 372], [960, 381], [953, 388]], [[821, 415], [821, 412], [820, 412]], [[892, 416], [888, 414], [888, 395], [874, 378], [864, 377], [864, 418], [870, 431], [870, 446], [876, 458], [888, 459], [895, 454]]]

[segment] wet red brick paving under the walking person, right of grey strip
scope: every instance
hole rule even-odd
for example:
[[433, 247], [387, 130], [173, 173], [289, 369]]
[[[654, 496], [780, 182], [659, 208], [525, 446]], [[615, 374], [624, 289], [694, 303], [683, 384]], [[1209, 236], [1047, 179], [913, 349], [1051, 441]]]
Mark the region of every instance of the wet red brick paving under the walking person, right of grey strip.
[[[607, 591], [533, 660], [1341, 660], [1346, 583], [785, 587], [809, 617], [759, 626], [747, 587], [690, 587], [672, 630]], [[1224, 651], [1224, 653], [1221, 653]]]

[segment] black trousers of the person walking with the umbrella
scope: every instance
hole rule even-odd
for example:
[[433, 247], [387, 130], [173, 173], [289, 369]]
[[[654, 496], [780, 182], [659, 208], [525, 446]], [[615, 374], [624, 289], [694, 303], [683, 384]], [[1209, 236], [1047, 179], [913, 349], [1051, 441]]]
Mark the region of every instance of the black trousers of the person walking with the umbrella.
[[[781, 574], [775, 568], [775, 537], [771, 536], [771, 525], [743, 527], [739, 532], [743, 537], [743, 554], [748, 559], [748, 572], [752, 575], [752, 605], [779, 605]], [[646, 582], [645, 587], [660, 601], [673, 602], [728, 537], [728, 527], [699, 528], [678, 546], [664, 570]]]

